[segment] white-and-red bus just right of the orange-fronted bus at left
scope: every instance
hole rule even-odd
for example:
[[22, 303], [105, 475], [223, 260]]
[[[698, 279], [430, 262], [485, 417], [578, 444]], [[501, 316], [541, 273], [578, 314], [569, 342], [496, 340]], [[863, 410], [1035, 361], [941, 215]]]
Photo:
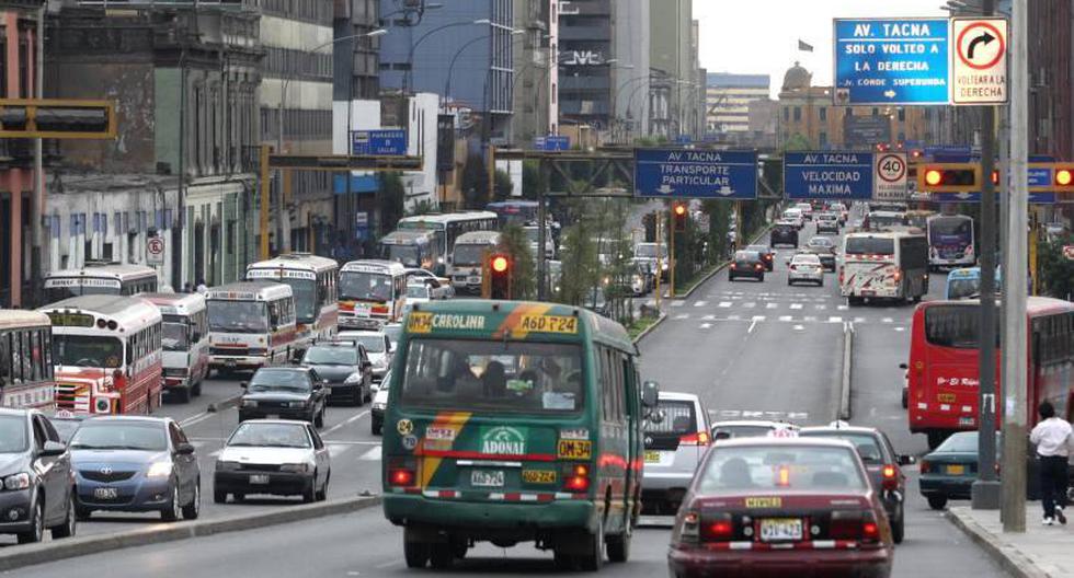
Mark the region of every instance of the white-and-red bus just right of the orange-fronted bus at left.
[[138, 296], [160, 310], [163, 317], [164, 390], [183, 402], [202, 394], [209, 373], [209, 316], [205, 298], [198, 293], [148, 293]]

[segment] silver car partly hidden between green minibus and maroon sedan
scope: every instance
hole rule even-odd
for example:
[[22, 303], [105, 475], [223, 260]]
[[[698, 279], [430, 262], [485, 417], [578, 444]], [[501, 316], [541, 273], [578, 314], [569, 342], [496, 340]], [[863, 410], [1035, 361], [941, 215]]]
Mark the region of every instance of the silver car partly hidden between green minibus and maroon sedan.
[[645, 420], [645, 469], [641, 502], [645, 513], [673, 516], [711, 443], [708, 413], [697, 395], [660, 392]]

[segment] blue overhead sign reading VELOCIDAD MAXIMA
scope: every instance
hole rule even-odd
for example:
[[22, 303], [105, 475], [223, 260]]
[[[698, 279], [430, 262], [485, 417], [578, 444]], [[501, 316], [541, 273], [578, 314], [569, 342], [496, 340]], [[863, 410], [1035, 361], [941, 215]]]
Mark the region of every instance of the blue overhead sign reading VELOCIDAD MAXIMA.
[[784, 189], [789, 199], [872, 198], [871, 152], [788, 152]]

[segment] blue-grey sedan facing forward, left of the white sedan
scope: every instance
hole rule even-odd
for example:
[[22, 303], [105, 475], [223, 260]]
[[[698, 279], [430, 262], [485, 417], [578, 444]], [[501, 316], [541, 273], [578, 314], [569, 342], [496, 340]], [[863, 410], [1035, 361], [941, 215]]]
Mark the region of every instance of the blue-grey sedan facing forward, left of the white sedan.
[[194, 446], [169, 418], [87, 419], [70, 443], [75, 510], [159, 511], [164, 521], [192, 520], [201, 510], [201, 472]]

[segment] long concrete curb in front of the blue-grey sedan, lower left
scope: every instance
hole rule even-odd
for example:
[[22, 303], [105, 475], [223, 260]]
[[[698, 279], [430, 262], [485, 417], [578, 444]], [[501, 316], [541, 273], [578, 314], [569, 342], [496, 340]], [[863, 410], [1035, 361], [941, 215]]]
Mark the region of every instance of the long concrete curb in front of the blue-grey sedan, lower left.
[[267, 525], [298, 522], [324, 516], [335, 516], [364, 510], [380, 505], [380, 496], [344, 498], [319, 504], [285, 507], [271, 512], [233, 516], [218, 520], [198, 520], [171, 524], [155, 524], [152, 528], [93, 534], [71, 539], [44, 542], [41, 544], [12, 546], [0, 550], [0, 571], [25, 566], [56, 562], [60, 559], [111, 552], [128, 547], [175, 542], [191, 537], [209, 536], [227, 532], [239, 532]]

